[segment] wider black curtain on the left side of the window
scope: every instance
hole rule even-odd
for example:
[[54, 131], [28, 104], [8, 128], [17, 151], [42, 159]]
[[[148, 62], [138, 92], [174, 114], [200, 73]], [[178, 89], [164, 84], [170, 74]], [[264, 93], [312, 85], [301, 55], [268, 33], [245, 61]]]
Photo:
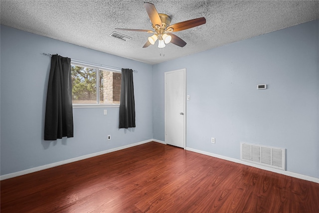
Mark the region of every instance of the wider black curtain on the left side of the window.
[[73, 137], [71, 59], [51, 56], [46, 97], [44, 140]]

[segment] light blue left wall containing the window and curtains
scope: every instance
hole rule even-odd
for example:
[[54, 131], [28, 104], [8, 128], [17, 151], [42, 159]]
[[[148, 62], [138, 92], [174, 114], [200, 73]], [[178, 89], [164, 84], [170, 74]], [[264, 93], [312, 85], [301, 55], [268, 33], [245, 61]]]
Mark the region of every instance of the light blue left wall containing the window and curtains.
[[[50, 57], [42, 52], [137, 70], [137, 127], [118, 129], [119, 108], [106, 116], [106, 108], [77, 108], [74, 138], [44, 141]], [[1, 175], [152, 139], [152, 95], [152, 65], [1, 25]]]

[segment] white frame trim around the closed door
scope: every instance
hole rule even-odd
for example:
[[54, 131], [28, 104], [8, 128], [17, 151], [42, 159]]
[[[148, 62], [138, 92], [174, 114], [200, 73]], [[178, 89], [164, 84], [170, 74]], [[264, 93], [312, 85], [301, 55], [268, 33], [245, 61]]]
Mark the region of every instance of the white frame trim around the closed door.
[[182, 71], [184, 74], [184, 79], [183, 79], [183, 105], [184, 105], [184, 109], [183, 109], [183, 113], [184, 113], [184, 123], [183, 123], [183, 149], [186, 149], [186, 68], [182, 68], [182, 69], [177, 69], [177, 70], [172, 70], [172, 71], [167, 71], [164, 72], [164, 137], [165, 137], [165, 143], [166, 143], [166, 75], [173, 73], [173, 72], [180, 72]]

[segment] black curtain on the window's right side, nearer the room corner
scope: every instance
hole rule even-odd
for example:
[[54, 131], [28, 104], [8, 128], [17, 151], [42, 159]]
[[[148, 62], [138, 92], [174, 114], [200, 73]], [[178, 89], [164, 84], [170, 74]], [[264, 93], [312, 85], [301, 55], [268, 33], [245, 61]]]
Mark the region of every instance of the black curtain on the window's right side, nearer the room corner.
[[122, 69], [119, 128], [130, 127], [135, 127], [133, 70]]

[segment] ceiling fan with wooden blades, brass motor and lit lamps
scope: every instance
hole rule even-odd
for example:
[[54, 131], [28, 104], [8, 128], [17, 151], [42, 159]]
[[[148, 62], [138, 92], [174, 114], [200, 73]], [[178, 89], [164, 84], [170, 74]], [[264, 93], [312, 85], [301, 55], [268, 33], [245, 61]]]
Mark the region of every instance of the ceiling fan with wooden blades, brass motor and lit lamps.
[[144, 6], [150, 17], [150, 20], [152, 22], [152, 28], [154, 30], [116, 28], [117, 30], [154, 33], [152, 36], [148, 38], [148, 41], [144, 44], [143, 48], [148, 47], [151, 44], [155, 44], [157, 40], [159, 40], [159, 45], [158, 45], [159, 48], [165, 47], [165, 44], [169, 42], [177, 46], [183, 47], [186, 45], [186, 42], [180, 37], [178, 37], [177, 35], [172, 34], [171, 32], [177, 32], [184, 29], [189, 29], [189, 28], [206, 23], [206, 19], [204, 17], [200, 17], [200, 18], [190, 19], [190, 20], [169, 25], [171, 21], [171, 18], [169, 15], [158, 13], [153, 3], [145, 2]]

